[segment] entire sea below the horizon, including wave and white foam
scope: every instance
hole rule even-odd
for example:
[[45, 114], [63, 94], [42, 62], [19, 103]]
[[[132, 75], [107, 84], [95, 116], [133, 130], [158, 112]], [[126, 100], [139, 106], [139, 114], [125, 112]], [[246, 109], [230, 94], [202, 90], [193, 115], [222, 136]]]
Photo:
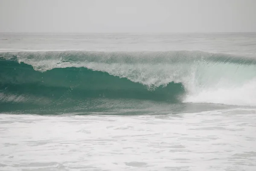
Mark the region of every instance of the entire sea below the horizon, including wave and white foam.
[[0, 33], [0, 171], [256, 171], [256, 33]]

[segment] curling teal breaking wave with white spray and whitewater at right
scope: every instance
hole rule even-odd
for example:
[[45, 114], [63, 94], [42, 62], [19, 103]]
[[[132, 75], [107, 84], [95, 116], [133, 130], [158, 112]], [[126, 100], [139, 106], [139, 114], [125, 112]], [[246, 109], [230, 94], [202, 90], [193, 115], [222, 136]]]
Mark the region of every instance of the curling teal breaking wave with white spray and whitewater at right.
[[97, 99], [256, 106], [256, 59], [201, 51], [0, 53], [2, 112], [90, 108]]

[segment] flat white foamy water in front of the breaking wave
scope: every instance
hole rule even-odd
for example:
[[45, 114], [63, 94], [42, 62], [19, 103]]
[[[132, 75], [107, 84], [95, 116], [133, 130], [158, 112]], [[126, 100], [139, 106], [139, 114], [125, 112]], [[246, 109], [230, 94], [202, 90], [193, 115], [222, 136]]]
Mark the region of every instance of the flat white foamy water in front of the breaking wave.
[[156, 116], [1, 114], [0, 168], [253, 171], [255, 122], [255, 109]]

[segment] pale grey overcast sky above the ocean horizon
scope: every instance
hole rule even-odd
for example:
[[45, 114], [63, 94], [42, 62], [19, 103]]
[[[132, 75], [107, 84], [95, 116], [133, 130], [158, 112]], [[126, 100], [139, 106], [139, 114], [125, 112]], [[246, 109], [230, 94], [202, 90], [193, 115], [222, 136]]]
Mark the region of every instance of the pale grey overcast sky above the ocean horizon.
[[256, 32], [256, 0], [0, 0], [0, 32]]

